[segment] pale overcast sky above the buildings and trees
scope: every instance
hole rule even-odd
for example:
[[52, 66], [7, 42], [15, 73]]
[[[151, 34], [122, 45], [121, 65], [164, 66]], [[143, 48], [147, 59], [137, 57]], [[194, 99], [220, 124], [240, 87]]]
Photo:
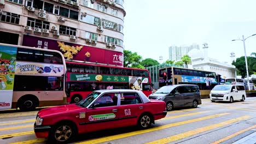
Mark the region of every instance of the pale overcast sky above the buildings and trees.
[[[125, 50], [143, 59], [169, 59], [172, 45], [209, 46], [208, 56], [231, 62], [245, 56], [242, 39], [256, 34], [255, 0], [126, 0]], [[246, 54], [256, 52], [256, 35], [246, 39]], [[160, 61], [159, 61], [160, 62]]]

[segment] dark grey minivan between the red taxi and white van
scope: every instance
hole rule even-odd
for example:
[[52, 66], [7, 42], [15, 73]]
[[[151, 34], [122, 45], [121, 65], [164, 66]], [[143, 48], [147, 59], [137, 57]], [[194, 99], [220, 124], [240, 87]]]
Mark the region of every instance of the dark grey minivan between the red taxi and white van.
[[164, 86], [150, 94], [149, 99], [164, 100], [167, 111], [171, 111], [174, 107], [197, 107], [197, 105], [202, 104], [200, 90], [197, 85]]

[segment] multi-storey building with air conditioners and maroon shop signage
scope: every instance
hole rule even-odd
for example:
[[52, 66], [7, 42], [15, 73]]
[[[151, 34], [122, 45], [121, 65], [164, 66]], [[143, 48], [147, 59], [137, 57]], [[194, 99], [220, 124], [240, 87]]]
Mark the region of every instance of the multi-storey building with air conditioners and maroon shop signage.
[[0, 43], [123, 66], [124, 0], [0, 0]]

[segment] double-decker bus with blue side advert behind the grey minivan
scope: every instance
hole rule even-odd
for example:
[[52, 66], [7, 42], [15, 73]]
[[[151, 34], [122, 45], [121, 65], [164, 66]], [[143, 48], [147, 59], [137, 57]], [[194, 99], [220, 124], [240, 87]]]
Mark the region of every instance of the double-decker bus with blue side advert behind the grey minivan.
[[217, 85], [215, 72], [167, 67], [159, 69], [159, 87], [166, 85], [191, 84], [199, 86], [201, 97], [209, 97], [211, 89]]

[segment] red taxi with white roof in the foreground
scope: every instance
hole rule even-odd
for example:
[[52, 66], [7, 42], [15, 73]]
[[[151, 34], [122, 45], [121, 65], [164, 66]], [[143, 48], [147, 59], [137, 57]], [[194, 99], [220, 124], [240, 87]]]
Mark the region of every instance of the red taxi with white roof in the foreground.
[[146, 129], [166, 113], [164, 101], [149, 100], [141, 91], [98, 90], [77, 104], [40, 110], [34, 132], [38, 138], [66, 143], [90, 131], [130, 125]]

